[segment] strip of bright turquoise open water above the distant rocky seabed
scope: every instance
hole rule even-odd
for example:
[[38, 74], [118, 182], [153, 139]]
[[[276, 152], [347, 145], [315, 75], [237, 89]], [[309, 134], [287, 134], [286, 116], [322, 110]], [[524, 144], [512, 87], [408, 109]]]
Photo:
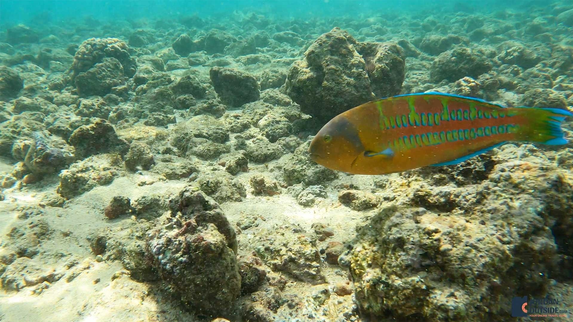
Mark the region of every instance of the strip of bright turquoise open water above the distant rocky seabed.
[[[421, 11], [484, 12], [498, 9], [528, 10], [548, 1], [2, 1], [0, 21], [46, 23], [93, 17], [115, 19], [177, 18], [198, 14], [223, 17], [233, 11], [253, 11], [272, 18], [335, 18], [340, 15], [418, 15]], [[486, 4], [484, 6], [484, 4]], [[39, 19], [37, 19], [39, 18]]]

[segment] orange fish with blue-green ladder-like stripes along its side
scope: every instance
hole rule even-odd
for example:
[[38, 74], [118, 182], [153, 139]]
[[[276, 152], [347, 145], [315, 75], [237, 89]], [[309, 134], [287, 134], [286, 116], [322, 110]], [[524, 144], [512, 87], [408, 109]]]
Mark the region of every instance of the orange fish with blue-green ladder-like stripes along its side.
[[567, 144], [560, 125], [568, 116], [563, 109], [506, 108], [453, 94], [405, 94], [334, 117], [308, 153], [317, 164], [352, 174], [453, 165], [507, 141]]

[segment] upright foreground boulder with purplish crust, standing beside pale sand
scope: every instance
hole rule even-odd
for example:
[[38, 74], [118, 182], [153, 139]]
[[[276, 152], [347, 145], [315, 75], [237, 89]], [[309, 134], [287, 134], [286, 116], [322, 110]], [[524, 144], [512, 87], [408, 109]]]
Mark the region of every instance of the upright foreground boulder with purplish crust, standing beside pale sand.
[[174, 218], [168, 226], [175, 229], [147, 236], [152, 267], [191, 309], [224, 315], [241, 292], [233, 227], [217, 202], [191, 187], [169, 208]]

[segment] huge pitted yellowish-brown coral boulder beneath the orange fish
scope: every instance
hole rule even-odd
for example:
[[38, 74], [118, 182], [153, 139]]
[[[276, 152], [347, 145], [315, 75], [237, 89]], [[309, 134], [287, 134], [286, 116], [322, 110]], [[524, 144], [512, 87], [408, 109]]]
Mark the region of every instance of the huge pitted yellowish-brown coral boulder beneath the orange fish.
[[378, 181], [394, 205], [359, 225], [338, 259], [360, 312], [384, 321], [497, 321], [516, 294], [555, 294], [555, 281], [571, 279], [566, 160], [558, 166], [533, 145], [507, 144], [493, 156]]

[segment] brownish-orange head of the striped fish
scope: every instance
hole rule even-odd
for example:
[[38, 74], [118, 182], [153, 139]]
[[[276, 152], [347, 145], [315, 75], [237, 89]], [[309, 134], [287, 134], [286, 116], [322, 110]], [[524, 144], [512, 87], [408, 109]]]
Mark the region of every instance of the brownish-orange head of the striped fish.
[[332, 170], [352, 173], [352, 164], [364, 154], [358, 128], [344, 114], [330, 120], [308, 148], [309, 157]]

